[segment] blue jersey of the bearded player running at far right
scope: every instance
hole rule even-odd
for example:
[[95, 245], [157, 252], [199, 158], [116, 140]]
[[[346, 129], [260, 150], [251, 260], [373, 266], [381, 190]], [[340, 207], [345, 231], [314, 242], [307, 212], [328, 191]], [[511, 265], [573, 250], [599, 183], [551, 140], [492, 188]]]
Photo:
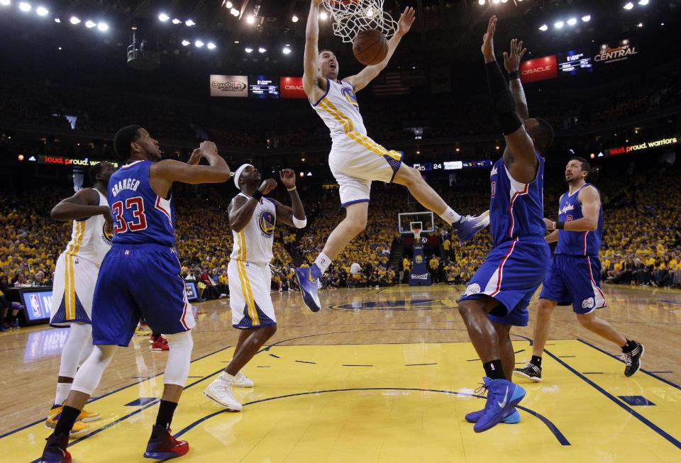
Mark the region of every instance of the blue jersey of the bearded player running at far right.
[[[577, 191], [560, 196], [560, 208], [558, 209], [558, 221], [570, 222], [584, 217], [582, 205], [580, 204], [580, 191], [588, 183], [580, 186]], [[591, 185], [593, 186], [593, 185]], [[596, 188], [594, 186], [594, 188]], [[599, 191], [600, 195], [600, 191]], [[603, 203], [598, 213], [598, 228], [596, 231], [576, 232], [569, 230], [558, 230], [558, 246], [555, 254], [577, 255], [577, 256], [597, 256], [601, 247], [601, 234], [603, 231]]]

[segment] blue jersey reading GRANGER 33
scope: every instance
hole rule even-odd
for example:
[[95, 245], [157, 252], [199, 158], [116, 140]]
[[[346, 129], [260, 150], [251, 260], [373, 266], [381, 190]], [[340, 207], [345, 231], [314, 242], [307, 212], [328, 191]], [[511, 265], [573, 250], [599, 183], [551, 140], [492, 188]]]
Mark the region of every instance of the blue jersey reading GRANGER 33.
[[151, 161], [135, 161], [109, 179], [109, 207], [114, 217], [114, 245], [175, 245], [172, 197], [163, 199], [149, 182]]

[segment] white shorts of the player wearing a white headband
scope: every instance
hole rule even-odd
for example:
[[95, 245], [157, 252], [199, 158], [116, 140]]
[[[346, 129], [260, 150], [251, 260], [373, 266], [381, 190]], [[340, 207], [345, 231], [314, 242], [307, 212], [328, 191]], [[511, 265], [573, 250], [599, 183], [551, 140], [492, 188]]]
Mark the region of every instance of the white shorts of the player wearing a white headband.
[[261, 328], [277, 324], [272, 306], [270, 265], [232, 259], [227, 264], [229, 305], [234, 328]]

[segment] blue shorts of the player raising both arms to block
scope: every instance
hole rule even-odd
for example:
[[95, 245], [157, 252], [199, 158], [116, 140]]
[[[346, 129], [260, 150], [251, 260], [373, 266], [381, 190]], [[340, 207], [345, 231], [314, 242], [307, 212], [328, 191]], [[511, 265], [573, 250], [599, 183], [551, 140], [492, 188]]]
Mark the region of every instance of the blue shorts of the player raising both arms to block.
[[487, 255], [459, 301], [492, 297], [500, 302], [489, 319], [500, 325], [527, 326], [527, 307], [550, 265], [543, 237], [502, 242]]

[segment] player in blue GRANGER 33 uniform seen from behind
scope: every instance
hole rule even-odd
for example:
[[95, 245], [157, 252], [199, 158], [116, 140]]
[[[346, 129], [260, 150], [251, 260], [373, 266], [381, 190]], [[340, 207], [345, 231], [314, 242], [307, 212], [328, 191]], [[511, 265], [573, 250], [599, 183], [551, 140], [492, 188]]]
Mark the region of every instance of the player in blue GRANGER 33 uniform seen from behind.
[[[109, 179], [108, 199], [114, 218], [111, 250], [99, 269], [92, 304], [94, 351], [78, 370], [71, 393], [48, 437], [43, 462], [70, 462], [68, 435], [116, 345], [127, 346], [143, 316], [150, 328], [163, 333], [170, 352], [156, 423], [144, 456], [179, 457], [189, 444], [170, 434], [170, 422], [189, 373], [194, 316], [187, 302], [175, 246], [175, 212], [170, 188], [173, 182], [221, 183], [229, 167], [211, 142], [201, 143], [187, 164], [161, 160], [156, 140], [139, 125], [121, 128], [114, 138], [116, 154], [126, 165]], [[201, 157], [209, 165], [197, 165]]]

